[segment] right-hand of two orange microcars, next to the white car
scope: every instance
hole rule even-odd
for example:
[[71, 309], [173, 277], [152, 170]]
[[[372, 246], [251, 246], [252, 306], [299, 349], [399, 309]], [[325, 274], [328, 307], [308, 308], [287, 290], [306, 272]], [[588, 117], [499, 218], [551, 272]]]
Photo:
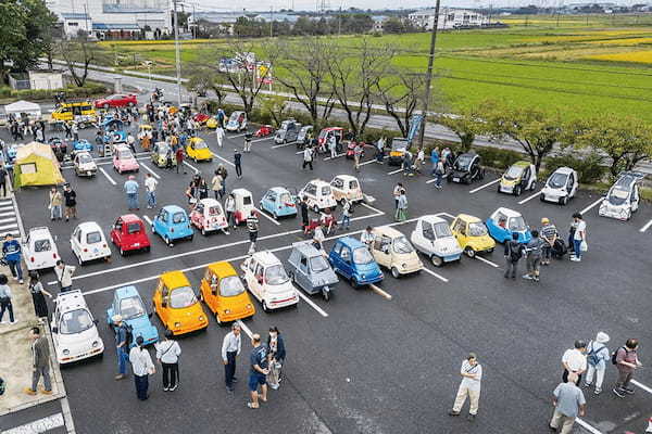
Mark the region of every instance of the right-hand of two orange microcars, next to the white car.
[[215, 316], [218, 324], [249, 318], [255, 308], [238, 273], [229, 263], [213, 263], [201, 279], [200, 298]]

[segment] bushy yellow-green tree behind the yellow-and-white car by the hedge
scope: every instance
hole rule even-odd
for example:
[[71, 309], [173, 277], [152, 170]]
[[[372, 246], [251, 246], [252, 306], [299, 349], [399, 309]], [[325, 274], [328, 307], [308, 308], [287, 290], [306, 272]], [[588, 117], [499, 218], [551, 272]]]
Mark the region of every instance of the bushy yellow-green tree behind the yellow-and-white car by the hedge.
[[555, 143], [565, 139], [566, 129], [559, 112], [549, 114], [535, 107], [490, 104], [482, 113], [488, 131], [496, 138], [510, 138], [523, 148], [537, 173]]

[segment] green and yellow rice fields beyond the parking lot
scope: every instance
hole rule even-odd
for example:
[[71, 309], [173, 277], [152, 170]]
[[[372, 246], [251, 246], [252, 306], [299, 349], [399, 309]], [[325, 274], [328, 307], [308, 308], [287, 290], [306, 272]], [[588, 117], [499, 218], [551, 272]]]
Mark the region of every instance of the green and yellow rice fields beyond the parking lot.
[[[501, 21], [510, 27], [439, 34], [435, 65], [451, 111], [492, 98], [568, 117], [614, 112], [652, 120], [652, 16], [561, 16], [559, 26], [556, 16]], [[353, 47], [354, 38], [343, 36], [336, 42]], [[429, 38], [410, 34], [372, 40], [400, 49], [397, 66], [423, 72]], [[155, 62], [158, 72], [173, 71], [170, 41], [102, 43], [126, 62], [147, 59]], [[208, 59], [224, 43], [228, 42], [184, 41], [183, 62]], [[264, 43], [260, 41], [261, 50]]]

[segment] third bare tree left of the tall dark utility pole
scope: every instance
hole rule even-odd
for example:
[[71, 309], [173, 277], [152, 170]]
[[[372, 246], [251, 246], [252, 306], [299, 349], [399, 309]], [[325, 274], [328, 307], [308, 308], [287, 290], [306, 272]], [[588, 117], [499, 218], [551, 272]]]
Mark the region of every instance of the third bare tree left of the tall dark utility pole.
[[272, 50], [277, 59], [275, 79], [292, 92], [317, 128], [328, 119], [335, 104], [335, 92], [328, 81], [328, 65], [334, 55], [331, 40], [311, 37], [302, 39], [300, 44], [278, 40]]

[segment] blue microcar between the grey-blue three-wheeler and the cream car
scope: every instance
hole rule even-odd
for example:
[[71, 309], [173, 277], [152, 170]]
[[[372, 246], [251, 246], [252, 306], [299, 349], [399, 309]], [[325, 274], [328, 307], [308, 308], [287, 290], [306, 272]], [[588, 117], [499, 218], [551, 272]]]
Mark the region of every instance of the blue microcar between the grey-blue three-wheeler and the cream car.
[[383, 271], [367, 246], [351, 237], [336, 241], [328, 254], [328, 261], [335, 272], [348, 279], [353, 288], [377, 283], [384, 279]]

